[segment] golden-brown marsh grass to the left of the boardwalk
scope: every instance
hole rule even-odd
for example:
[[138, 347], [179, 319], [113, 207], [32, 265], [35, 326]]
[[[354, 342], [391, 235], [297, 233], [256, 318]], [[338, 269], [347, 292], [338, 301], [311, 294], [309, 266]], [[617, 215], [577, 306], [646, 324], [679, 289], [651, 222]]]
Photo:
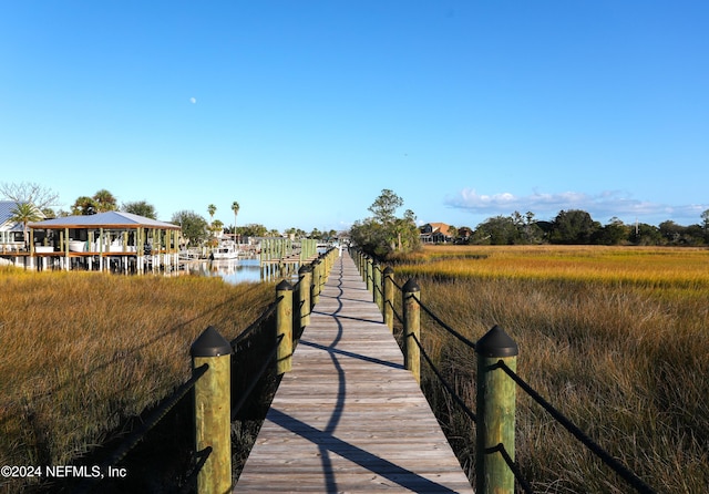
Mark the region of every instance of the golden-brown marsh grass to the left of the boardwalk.
[[219, 278], [0, 268], [0, 464], [64, 465], [105, 443], [189, 377], [207, 326], [232, 339], [274, 295]]

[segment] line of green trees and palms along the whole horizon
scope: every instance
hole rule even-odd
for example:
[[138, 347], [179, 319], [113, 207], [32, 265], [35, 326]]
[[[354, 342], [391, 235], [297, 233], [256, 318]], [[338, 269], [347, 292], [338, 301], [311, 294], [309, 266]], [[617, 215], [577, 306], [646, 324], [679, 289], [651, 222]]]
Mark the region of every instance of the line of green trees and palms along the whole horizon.
[[[0, 195], [17, 203], [14, 220], [25, 225], [41, 219], [38, 212], [48, 218], [71, 215], [93, 215], [110, 210], [122, 210], [157, 219], [155, 207], [147, 200], [134, 200], [119, 205], [117, 198], [107, 189], [100, 189], [92, 196], [80, 196], [71, 205], [70, 212], [55, 212], [51, 208], [58, 195], [38, 184], [0, 184]], [[401, 217], [397, 210], [403, 199], [391, 189], [383, 189], [368, 208], [371, 217], [357, 220], [350, 228], [353, 243], [366, 251], [380, 257], [395, 253], [412, 251], [420, 247], [420, 231], [417, 217], [407, 209]], [[281, 233], [268, 229], [260, 224], [236, 226], [239, 212], [238, 202], [232, 203], [234, 224], [225, 226], [214, 219], [216, 206], [209, 204], [207, 213], [210, 220], [194, 210], [174, 213], [171, 223], [179, 225], [183, 236], [192, 245], [214, 241], [222, 234], [235, 238], [280, 236]], [[474, 229], [461, 226], [451, 227], [452, 241], [473, 245], [674, 245], [703, 246], [709, 245], [709, 209], [701, 215], [701, 223], [682, 226], [672, 220], [662, 222], [659, 226], [646, 223], [625, 224], [612, 218], [602, 225], [582, 209], [561, 210], [551, 222], [537, 220], [531, 212], [514, 212], [508, 216], [494, 216], [479, 224]], [[327, 240], [338, 235], [335, 230], [320, 231], [315, 228], [306, 233], [300, 228], [288, 228], [285, 235], [294, 238], [314, 238]]]

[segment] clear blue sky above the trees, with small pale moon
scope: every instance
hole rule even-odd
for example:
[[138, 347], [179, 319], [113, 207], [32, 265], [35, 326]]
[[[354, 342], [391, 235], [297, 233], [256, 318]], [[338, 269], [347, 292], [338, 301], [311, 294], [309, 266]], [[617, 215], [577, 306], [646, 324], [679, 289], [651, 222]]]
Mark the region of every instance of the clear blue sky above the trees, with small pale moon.
[[703, 0], [0, 0], [0, 182], [343, 229], [709, 209]]

